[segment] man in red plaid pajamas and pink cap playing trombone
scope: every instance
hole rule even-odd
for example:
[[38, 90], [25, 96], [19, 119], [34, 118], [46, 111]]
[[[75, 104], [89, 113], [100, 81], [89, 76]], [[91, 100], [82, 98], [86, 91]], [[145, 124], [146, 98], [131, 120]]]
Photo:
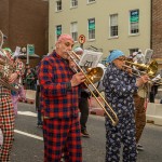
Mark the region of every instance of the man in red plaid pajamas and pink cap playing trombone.
[[52, 54], [39, 67], [41, 108], [43, 114], [44, 162], [81, 162], [79, 122], [79, 86], [85, 81], [82, 72], [73, 73], [69, 59], [73, 40], [60, 35]]

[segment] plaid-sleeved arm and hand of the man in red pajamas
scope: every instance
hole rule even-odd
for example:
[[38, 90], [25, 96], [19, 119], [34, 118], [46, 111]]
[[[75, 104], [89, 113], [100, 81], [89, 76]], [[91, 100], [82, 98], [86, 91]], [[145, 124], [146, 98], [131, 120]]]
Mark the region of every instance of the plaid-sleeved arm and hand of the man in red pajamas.
[[50, 63], [48, 59], [43, 59], [39, 68], [38, 78], [41, 86], [41, 93], [44, 96], [65, 96], [68, 92], [72, 92], [75, 86], [84, 81], [84, 77], [81, 72], [73, 76], [71, 75], [70, 78], [68, 70], [65, 71], [63, 69], [53, 71], [54, 64], [55, 63]]

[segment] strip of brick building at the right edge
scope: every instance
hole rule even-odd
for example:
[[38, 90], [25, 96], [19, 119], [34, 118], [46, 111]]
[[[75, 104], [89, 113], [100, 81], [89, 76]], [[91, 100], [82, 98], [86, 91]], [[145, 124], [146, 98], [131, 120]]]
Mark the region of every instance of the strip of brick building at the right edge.
[[152, 0], [151, 49], [153, 57], [162, 69], [162, 1]]

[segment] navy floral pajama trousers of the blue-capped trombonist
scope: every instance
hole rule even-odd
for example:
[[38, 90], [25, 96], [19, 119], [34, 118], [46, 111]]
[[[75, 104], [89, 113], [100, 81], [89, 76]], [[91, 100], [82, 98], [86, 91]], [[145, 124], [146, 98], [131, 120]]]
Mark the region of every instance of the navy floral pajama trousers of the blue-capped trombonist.
[[112, 126], [106, 118], [106, 162], [119, 162], [123, 144], [123, 162], [136, 162], [136, 139], [134, 117], [119, 118], [119, 124]]

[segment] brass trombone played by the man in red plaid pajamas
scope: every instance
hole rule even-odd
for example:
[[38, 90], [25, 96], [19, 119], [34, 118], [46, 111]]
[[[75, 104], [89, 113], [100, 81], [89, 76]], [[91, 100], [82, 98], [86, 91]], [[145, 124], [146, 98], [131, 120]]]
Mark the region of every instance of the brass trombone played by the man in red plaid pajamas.
[[[118, 119], [116, 112], [110, 107], [110, 105], [105, 100], [105, 98], [103, 97], [103, 95], [99, 93], [99, 91], [94, 85], [95, 82], [97, 82], [97, 81], [100, 80], [100, 78], [103, 76], [103, 69], [100, 67], [96, 67], [96, 68], [87, 69], [87, 73], [85, 73], [83, 71], [83, 69], [80, 67], [80, 65], [77, 63], [77, 60], [75, 59], [75, 57], [76, 57], [77, 59], [80, 60], [79, 56], [73, 51], [67, 52], [67, 53], [69, 54], [70, 58], [75, 62], [75, 64], [77, 65], [78, 69], [84, 75], [84, 77], [86, 79], [85, 82], [84, 82], [84, 84], [86, 85], [86, 87], [89, 89], [89, 91], [91, 92], [91, 94], [94, 96], [94, 98], [97, 100], [97, 103], [100, 105], [100, 107], [104, 109], [104, 111], [106, 112], [106, 114], [110, 119], [112, 125], [116, 126], [118, 124], [118, 122], [119, 122], [119, 119]], [[76, 72], [78, 72], [77, 69], [73, 69], [73, 70]], [[89, 87], [89, 84], [91, 84], [94, 87], [96, 94], [98, 96], [100, 96], [100, 98], [103, 99], [103, 102], [108, 106], [111, 114], [103, 106], [103, 104], [100, 103], [100, 100], [97, 98], [96, 94]]]

